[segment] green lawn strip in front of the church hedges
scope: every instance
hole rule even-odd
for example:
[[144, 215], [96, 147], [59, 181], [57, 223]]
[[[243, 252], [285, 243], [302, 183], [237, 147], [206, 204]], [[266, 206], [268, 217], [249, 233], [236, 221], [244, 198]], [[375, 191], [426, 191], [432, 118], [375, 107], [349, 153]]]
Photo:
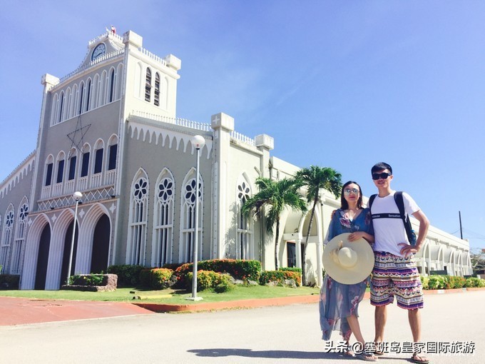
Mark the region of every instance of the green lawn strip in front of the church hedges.
[[[130, 293], [135, 292], [135, 293]], [[198, 292], [203, 302], [219, 302], [228, 300], [249, 300], [253, 298], [287, 297], [291, 295], [317, 295], [319, 288], [310, 287], [270, 287], [267, 285], [238, 285], [227, 293], [214, 293], [210, 290]], [[143, 303], [173, 303], [176, 305], [193, 303], [186, 300], [192, 293], [185, 290], [136, 290], [136, 288], [118, 288], [113, 292], [81, 292], [78, 290], [0, 290], [0, 296], [37, 298], [43, 300], [102, 300]], [[133, 299], [138, 296], [141, 299]]]

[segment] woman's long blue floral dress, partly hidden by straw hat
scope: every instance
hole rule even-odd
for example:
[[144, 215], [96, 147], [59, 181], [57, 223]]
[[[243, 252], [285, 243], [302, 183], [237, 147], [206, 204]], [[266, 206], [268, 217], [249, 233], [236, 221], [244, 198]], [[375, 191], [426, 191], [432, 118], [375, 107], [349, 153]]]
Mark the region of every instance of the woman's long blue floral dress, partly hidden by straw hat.
[[[327, 242], [339, 234], [354, 233], [355, 231], [364, 231], [374, 235], [369, 208], [364, 208], [354, 221], [349, 221], [344, 211], [339, 208], [330, 221]], [[334, 330], [340, 331], [344, 340], [349, 340], [352, 330], [350, 330], [347, 317], [352, 314], [359, 317], [357, 309], [359, 302], [364, 298], [368, 279], [367, 277], [356, 284], [343, 284], [325, 274], [319, 302], [323, 340], [330, 340]]]

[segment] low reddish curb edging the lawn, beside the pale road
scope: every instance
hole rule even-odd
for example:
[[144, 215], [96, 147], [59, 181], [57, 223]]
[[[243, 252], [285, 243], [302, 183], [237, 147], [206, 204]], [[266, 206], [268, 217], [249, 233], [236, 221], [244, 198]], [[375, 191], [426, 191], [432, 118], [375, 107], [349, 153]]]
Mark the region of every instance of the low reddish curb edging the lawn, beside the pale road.
[[[474, 290], [485, 290], [485, 288], [455, 288], [449, 290], [423, 290], [425, 295], [444, 293], [466, 293]], [[201, 302], [188, 305], [174, 305], [170, 303], [132, 303], [146, 310], [157, 313], [166, 312], [200, 312], [210, 310], [230, 310], [238, 308], [259, 308], [267, 306], [293, 305], [296, 303], [317, 303], [320, 295], [292, 295], [278, 298], [259, 298], [252, 300], [229, 300], [221, 302]], [[370, 292], [364, 293], [364, 300], [370, 299]]]

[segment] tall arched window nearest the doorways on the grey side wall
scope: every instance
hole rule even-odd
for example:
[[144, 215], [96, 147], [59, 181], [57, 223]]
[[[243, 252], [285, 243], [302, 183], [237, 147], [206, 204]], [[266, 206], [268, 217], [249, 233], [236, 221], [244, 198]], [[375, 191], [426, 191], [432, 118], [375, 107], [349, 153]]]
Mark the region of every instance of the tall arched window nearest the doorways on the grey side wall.
[[131, 185], [127, 264], [145, 265], [147, 211], [148, 178], [144, 171], [139, 171]]

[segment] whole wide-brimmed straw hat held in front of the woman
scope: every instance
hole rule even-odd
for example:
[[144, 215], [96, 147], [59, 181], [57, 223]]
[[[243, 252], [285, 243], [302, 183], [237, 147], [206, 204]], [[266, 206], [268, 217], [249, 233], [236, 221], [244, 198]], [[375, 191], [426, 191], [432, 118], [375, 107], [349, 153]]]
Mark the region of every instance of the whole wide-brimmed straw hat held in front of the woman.
[[364, 238], [350, 242], [350, 233], [335, 236], [323, 251], [325, 272], [339, 283], [362, 282], [374, 267], [374, 252]]

